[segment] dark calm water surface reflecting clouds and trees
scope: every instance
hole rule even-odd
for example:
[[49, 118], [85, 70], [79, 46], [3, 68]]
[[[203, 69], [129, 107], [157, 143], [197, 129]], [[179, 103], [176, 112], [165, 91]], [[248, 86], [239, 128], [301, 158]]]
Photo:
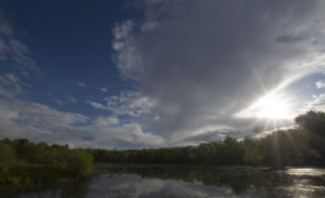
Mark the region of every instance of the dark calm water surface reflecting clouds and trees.
[[325, 169], [101, 166], [89, 180], [17, 198], [325, 197]]

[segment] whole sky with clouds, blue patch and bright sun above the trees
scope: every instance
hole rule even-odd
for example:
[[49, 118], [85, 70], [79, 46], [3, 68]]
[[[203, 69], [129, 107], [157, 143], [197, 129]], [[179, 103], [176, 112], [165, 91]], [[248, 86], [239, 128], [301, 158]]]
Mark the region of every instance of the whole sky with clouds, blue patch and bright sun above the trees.
[[325, 110], [325, 1], [0, 0], [0, 138], [197, 145]]

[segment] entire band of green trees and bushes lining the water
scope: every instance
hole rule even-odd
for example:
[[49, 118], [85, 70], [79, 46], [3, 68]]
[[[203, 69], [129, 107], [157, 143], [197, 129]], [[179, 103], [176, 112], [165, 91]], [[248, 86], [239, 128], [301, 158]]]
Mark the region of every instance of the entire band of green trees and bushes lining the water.
[[278, 130], [261, 138], [236, 140], [198, 146], [139, 150], [69, 149], [67, 145], [31, 143], [25, 138], [0, 141], [0, 194], [31, 188], [66, 177], [82, 177], [93, 160], [114, 163], [211, 166], [325, 166], [325, 114], [308, 111], [295, 119], [297, 129]]

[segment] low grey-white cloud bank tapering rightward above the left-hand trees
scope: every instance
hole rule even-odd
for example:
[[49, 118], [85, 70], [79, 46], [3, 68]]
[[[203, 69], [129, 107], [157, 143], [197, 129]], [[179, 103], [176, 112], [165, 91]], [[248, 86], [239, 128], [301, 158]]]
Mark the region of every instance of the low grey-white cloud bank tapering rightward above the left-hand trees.
[[[156, 147], [164, 143], [161, 136], [144, 131], [139, 123], [120, 121], [117, 116], [88, 117], [24, 101], [22, 88], [22, 81], [15, 75], [0, 76], [0, 138], [105, 148], [112, 145], [118, 148]], [[76, 102], [75, 97], [66, 95], [62, 103]], [[95, 103], [90, 104], [96, 107]]]

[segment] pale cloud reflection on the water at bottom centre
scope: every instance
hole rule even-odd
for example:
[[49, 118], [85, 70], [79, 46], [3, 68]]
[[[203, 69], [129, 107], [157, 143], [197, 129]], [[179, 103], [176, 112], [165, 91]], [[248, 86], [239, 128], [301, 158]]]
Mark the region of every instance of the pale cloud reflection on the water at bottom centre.
[[[109, 181], [109, 185], [107, 185]], [[233, 197], [229, 188], [184, 183], [177, 180], [145, 179], [139, 175], [104, 175], [90, 186], [88, 197]]]

